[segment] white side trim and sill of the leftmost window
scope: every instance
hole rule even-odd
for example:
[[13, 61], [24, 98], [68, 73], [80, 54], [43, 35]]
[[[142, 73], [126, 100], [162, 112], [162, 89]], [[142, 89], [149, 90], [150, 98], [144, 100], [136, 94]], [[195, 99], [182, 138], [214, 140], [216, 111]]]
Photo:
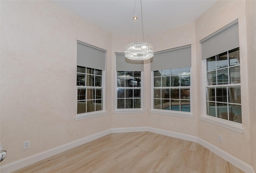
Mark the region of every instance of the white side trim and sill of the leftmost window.
[[[90, 68], [90, 67], [88, 67]], [[79, 86], [76, 86], [76, 111], [77, 111], [77, 88]], [[75, 120], [83, 120], [86, 118], [92, 118], [96, 116], [102, 116], [108, 114], [107, 111], [105, 111], [105, 100], [106, 100], [106, 94], [105, 94], [105, 71], [102, 70], [102, 110], [94, 111], [94, 112], [88, 112], [88, 113], [82, 113], [82, 114], [76, 114]]]

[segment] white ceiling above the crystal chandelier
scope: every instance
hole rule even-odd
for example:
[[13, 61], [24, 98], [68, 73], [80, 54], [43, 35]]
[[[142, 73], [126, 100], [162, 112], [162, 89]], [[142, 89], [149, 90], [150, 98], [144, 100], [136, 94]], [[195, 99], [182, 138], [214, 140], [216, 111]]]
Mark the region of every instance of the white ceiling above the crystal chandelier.
[[[52, 0], [115, 35], [151, 35], [196, 20], [217, 0]], [[138, 20], [133, 20], [133, 16]]]

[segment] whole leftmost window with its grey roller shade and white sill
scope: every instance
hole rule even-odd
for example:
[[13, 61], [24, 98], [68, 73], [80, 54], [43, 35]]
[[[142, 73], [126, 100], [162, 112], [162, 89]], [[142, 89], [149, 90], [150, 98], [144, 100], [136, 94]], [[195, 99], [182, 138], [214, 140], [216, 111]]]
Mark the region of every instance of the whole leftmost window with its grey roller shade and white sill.
[[75, 120], [104, 115], [106, 51], [77, 41], [77, 110]]

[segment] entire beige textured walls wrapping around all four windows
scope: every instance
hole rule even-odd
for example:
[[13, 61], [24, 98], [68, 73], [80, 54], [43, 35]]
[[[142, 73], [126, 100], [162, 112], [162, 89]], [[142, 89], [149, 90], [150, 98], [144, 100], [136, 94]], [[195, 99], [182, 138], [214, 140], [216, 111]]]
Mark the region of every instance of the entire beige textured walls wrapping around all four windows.
[[[142, 37], [111, 35], [49, 1], [1, 1], [0, 136], [8, 151], [1, 165], [110, 128], [150, 126], [198, 136], [256, 169], [256, 60], [255, 49], [252, 49], [256, 47], [256, 18], [252, 15], [255, 6], [255, 2], [218, 1], [194, 22], [145, 37], [146, 42], [154, 45], [154, 51], [192, 45], [191, 98], [195, 117], [186, 118], [148, 112], [151, 104], [149, 60], [144, 62], [145, 112], [114, 114], [115, 52], [124, 52], [126, 44], [142, 41]], [[237, 18], [243, 134], [199, 119], [204, 115], [199, 41]], [[107, 115], [74, 120], [76, 40], [107, 50]], [[129, 118], [134, 122], [129, 123]], [[223, 136], [222, 143], [217, 140], [218, 134]], [[32, 147], [22, 150], [25, 140], [31, 140]]]

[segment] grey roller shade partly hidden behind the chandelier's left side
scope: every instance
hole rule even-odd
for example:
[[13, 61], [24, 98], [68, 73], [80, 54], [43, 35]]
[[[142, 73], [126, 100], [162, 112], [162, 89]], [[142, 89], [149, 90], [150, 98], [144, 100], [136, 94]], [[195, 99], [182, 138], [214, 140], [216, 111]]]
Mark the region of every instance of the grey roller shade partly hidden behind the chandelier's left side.
[[130, 60], [124, 53], [116, 53], [116, 71], [143, 71], [143, 61]]

